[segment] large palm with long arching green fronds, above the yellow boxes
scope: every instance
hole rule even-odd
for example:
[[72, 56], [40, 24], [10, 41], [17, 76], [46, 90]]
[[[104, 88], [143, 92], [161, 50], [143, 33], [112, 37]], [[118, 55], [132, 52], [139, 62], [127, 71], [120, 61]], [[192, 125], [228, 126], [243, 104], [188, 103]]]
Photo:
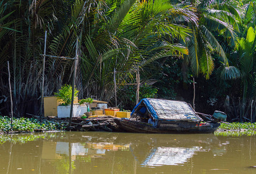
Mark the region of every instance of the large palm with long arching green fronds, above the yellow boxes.
[[[185, 9], [174, 8], [169, 1], [124, 1], [118, 5], [120, 8], [115, 10], [115, 3], [110, 6], [111, 13], [107, 12], [110, 16], [92, 22], [94, 26], [90, 28], [94, 32], [83, 34], [85, 91], [107, 101], [113, 97], [114, 68], [120, 84], [132, 80], [138, 66], [142, 68], [162, 57], [188, 53], [184, 46], [169, 40], [177, 38], [185, 42], [190, 30], [170, 23], [166, 15], [179, 13], [189, 18]], [[101, 27], [96, 21], [103, 23]]]

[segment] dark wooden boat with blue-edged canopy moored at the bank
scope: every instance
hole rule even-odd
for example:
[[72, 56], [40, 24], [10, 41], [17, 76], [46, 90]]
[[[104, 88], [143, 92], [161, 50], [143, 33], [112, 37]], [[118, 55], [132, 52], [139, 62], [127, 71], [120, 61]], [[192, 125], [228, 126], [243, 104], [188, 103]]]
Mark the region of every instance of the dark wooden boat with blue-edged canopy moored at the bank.
[[[218, 111], [219, 113], [221, 112]], [[155, 126], [148, 124], [150, 115], [156, 123]], [[135, 106], [130, 119], [115, 118], [115, 123], [125, 131], [136, 133], [212, 133], [216, 131], [220, 126], [220, 120], [206, 118], [208, 121], [199, 117], [188, 103], [147, 98], [142, 99]]]

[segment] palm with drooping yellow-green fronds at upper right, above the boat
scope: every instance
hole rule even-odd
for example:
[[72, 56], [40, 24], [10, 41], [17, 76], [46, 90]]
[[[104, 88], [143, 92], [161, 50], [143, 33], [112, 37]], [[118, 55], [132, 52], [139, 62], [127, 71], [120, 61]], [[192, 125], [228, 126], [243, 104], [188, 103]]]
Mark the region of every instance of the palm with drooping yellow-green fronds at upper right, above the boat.
[[[212, 53], [218, 53], [225, 67], [229, 67], [226, 57], [216, 35], [223, 35], [227, 44], [234, 46], [236, 33], [239, 32], [237, 20], [240, 20], [240, 12], [236, 7], [236, 2], [231, 1], [188, 1], [185, 4], [194, 6], [197, 9], [199, 23], [189, 23], [192, 29], [191, 40], [187, 47], [190, 52], [185, 56], [184, 64], [190, 63], [192, 73], [198, 75], [202, 73], [209, 79], [213, 68]], [[226, 73], [236, 74], [234, 68], [227, 68]], [[229, 70], [229, 71], [228, 71]]]

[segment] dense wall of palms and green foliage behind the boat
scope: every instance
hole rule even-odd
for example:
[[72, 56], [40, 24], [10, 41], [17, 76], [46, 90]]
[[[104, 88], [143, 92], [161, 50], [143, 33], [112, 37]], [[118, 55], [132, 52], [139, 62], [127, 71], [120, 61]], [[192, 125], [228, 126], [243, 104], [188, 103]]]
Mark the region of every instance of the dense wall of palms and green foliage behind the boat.
[[[255, 121], [255, 5], [255, 0], [0, 0], [0, 112], [10, 110], [9, 61], [15, 117], [40, 114], [47, 31], [47, 55], [74, 57], [79, 39], [79, 99], [97, 96], [113, 104], [115, 70], [118, 103], [132, 108], [136, 86], [127, 84], [136, 83], [139, 70], [141, 97], [192, 103], [194, 77], [197, 111], [222, 110], [229, 121]], [[43, 95], [71, 84], [74, 69], [73, 60], [47, 57]]]

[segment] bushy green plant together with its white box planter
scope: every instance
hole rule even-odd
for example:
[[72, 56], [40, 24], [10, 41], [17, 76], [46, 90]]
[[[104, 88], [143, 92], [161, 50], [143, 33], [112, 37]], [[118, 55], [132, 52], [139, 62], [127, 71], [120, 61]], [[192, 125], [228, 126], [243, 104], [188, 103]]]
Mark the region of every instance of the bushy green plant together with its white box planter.
[[[63, 85], [58, 92], [54, 95], [61, 101], [61, 104], [57, 107], [57, 113], [59, 118], [68, 118], [70, 116], [71, 110], [71, 100], [72, 100], [72, 86]], [[78, 90], [75, 88], [74, 97], [78, 97]], [[80, 117], [86, 112], [85, 105], [73, 104], [73, 115], [72, 117]]]

